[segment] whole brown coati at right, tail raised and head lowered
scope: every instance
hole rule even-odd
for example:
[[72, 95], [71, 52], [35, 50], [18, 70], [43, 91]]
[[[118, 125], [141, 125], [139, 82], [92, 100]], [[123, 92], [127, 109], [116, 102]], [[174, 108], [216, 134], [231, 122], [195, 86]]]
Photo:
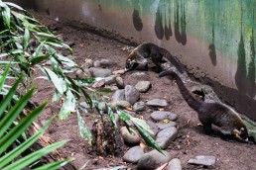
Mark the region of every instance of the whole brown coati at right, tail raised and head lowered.
[[219, 127], [222, 137], [224, 138], [227, 136], [235, 136], [242, 141], [248, 140], [247, 128], [234, 110], [221, 103], [206, 103], [196, 100], [177, 73], [166, 70], [161, 72], [159, 77], [166, 75], [170, 75], [176, 80], [184, 99], [189, 106], [198, 113], [198, 119], [207, 134], [211, 133], [211, 125], [213, 124]]

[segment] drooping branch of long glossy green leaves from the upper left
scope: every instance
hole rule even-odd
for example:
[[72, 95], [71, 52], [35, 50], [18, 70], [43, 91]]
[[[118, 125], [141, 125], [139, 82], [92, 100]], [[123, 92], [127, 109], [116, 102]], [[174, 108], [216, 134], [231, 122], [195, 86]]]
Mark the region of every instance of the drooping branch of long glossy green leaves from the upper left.
[[[61, 98], [64, 98], [59, 118], [64, 120], [70, 113], [76, 113], [80, 135], [87, 139], [88, 143], [91, 143], [92, 138], [90, 130], [78, 112], [80, 108], [78, 101], [81, 99], [85, 100], [90, 108], [94, 105], [102, 119], [103, 112], [97, 98], [102, 97], [100, 92], [109, 92], [109, 90], [103, 89], [96, 91], [90, 89], [88, 85], [95, 82], [94, 78], [73, 79], [67, 76], [65, 73], [81, 69], [75, 62], [58, 52], [58, 49], [65, 48], [72, 54], [71, 48], [52, 34], [48, 28], [40, 24], [26, 10], [16, 4], [2, 2], [1, 0], [0, 9], [0, 57], [9, 57], [13, 60], [12, 74], [16, 77], [18, 77], [21, 72], [26, 73], [23, 80], [23, 85], [26, 89], [31, 87], [35, 78], [42, 78], [34, 77], [33, 74], [34, 69], [41, 69], [46, 75], [44, 78], [50, 80], [56, 87], [53, 101], [57, 102]], [[38, 42], [38, 45], [31, 47], [31, 40]], [[46, 60], [51, 61], [51, 68], [42, 64], [42, 62]], [[5, 63], [6, 61], [0, 61], [0, 65]], [[64, 67], [64, 65], [68, 68]], [[6, 89], [4, 90], [7, 91]], [[93, 94], [92, 100], [87, 91]], [[113, 112], [108, 105], [106, 105], [106, 107], [108, 109], [107, 114], [112, 124], [116, 127]], [[148, 141], [151, 146], [161, 150], [146, 132], [152, 132], [150, 127], [146, 124], [137, 124], [138, 120], [132, 119], [131, 116], [124, 117], [124, 112], [122, 113], [123, 114], [119, 114], [121, 120], [124, 122], [128, 120], [133, 121], [137, 125], [136, 127], [141, 135], [146, 137], [145, 140]]]

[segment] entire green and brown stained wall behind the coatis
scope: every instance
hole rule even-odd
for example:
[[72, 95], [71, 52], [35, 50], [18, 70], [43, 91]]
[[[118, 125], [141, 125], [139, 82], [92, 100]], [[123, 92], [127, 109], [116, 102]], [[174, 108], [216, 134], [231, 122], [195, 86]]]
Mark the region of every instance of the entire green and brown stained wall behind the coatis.
[[255, 0], [24, 0], [54, 18], [155, 42], [256, 120]]

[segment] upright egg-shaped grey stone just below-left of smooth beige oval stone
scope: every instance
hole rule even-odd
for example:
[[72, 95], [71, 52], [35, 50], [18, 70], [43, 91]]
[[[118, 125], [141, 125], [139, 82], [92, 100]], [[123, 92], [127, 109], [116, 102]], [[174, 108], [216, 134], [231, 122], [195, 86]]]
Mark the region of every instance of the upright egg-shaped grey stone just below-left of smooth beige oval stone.
[[135, 104], [140, 99], [140, 93], [132, 85], [125, 86], [125, 100], [128, 101], [131, 105]]

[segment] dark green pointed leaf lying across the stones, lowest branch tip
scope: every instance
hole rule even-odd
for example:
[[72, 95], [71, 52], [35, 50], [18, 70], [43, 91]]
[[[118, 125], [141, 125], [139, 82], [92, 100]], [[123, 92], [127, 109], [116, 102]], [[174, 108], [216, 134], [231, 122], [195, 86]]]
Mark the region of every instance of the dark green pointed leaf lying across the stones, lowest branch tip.
[[139, 133], [141, 134], [142, 138], [145, 140], [146, 144], [148, 146], [151, 146], [155, 149], [157, 149], [159, 152], [163, 153], [163, 150], [161, 149], [161, 147], [158, 145], [158, 143], [147, 133], [147, 131], [145, 131], [142, 127], [137, 126], [135, 124], [135, 127], [138, 129]]

